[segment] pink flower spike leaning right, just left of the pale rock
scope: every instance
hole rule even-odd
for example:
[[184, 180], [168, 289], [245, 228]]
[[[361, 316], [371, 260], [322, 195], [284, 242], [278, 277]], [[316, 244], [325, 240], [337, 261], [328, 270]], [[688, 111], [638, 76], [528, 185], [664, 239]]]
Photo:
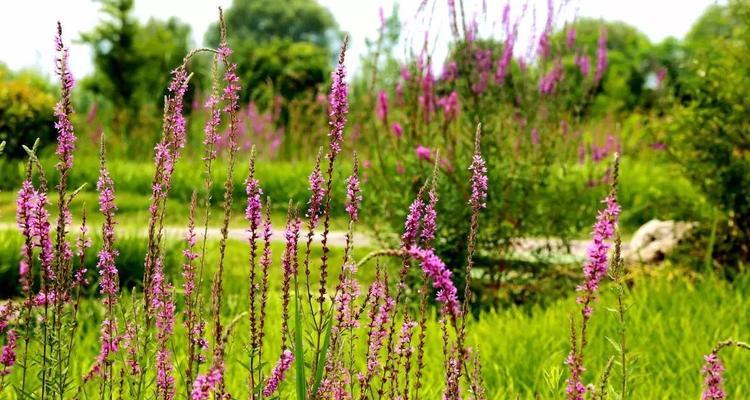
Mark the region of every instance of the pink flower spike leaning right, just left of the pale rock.
[[610, 195], [604, 199], [607, 207], [596, 217], [591, 244], [587, 250], [587, 261], [583, 266], [584, 282], [576, 290], [583, 292], [578, 302], [583, 304], [582, 313], [584, 318], [591, 316], [591, 302], [596, 300], [599, 282], [607, 275], [607, 251], [610, 245], [606, 240], [612, 238], [615, 233], [617, 217], [620, 215], [620, 206], [614, 196]]

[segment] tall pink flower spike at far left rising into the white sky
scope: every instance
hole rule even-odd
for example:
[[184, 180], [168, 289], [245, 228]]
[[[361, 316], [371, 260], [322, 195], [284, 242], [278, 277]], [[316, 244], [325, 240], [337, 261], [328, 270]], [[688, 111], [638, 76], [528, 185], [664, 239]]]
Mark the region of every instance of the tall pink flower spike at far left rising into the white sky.
[[68, 66], [68, 49], [63, 45], [62, 26], [59, 22], [57, 23], [55, 48], [60, 53], [56, 60], [55, 70], [60, 77], [61, 86], [61, 98], [55, 105], [55, 118], [57, 118], [55, 122], [57, 150], [55, 152], [60, 159], [58, 169], [68, 171], [73, 167], [73, 150], [75, 150], [76, 142], [73, 124], [70, 122], [70, 114], [73, 112], [70, 105], [70, 93], [75, 85], [75, 79]]

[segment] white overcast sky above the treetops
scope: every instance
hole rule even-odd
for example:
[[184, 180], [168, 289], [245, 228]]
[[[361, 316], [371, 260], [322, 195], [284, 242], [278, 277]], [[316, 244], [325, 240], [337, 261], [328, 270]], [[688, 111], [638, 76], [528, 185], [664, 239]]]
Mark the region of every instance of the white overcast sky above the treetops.
[[[429, 40], [432, 47], [437, 49], [433, 59], [441, 59], [447, 48], [445, 44], [450, 39], [444, 4], [447, 1], [434, 1], [438, 2], [441, 10], [432, 18], [433, 28], [430, 29]], [[507, 1], [511, 4], [513, 14], [519, 12], [527, 0], [464, 0], [464, 4], [467, 15], [472, 16], [479, 14], [486, 2], [489, 18], [499, 21], [502, 7]], [[541, 29], [546, 18], [547, 3], [545, 0], [528, 1], [531, 4], [529, 8], [536, 10], [537, 25]], [[621, 20], [637, 27], [653, 42], [658, 42], [669, 36], [683, 37], [702, 12], [717, 1], [721, 0], [568, 0], [566, 12], [560, 13], [557, 24], [576, 15]], [[356, 70], [360, 56], [366, 51], [365, 39], [377, 35], [380, 8], [389, 14], [396, 0], [319, 2], [331, 10], [341, 30], [349, 33], [351, 46], [347, 67]], [[399, 49], [403, 55], [410, 44], [421, 44], [426, 21], [415, 17], [421, 0], [401, 0], [398, 3], [399, 15], [404, 23], [405, 44]], [[230, 5], [231, 0], [136, 0], [135, 14], [142, 21], [151, 17], [167, 19], [175, 16], [191, 25], [194, 44], [201, 45], [206, 29], [218, 17], [217, 7], [226, 8]], [[87, 46], [75, 43], [75, 40], [80, 32], [90, 31], [97, 24], [101, 18], [98, 6], [92, 0], [0, 0], [0, 61], [12, 69], [35, 68], [51, 75], [54, 71], [55, 23], [60, 20], [66, 42], [72, 42], [70, 63], [74, 76], [81, 77], [90, 73], [93, 68], [91, 51]], [[531, 21], [532, 18], [526, 20]], [[531, 22], [527, 23], [531, 25]], [[495, 29], [496, 25], [491, 22], [482, 24], [480, 35], [494, 35], [495, 31], [499, 31]], [[417, 37], [419, 39], [415, 39]], [[519, 42], [519, 47], [523, 48], [523, 40]]]

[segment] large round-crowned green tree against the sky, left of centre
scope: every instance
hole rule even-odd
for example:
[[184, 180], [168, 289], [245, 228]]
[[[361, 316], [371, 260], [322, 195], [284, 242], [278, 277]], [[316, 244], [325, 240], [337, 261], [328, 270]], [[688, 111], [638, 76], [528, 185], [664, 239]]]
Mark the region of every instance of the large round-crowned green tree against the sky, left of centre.
[[[317, 1], [234, 0], [224, 19], [244, 100], [269, 100], [269, 91], [290, 99], [328, 81], [337, 25]], [[218, 46], [217, 24], [205, 41]]]

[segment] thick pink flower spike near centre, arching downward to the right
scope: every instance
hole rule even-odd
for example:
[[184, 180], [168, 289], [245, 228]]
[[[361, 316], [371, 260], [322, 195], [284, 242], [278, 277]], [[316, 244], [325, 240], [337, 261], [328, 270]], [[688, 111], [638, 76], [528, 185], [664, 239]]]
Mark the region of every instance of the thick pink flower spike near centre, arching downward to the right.
[[458, 290], [451, 281], [451, 271], [432, 249], [421, 249], [417, 246], [407, 248], [407, 253], [422, 265], [422, 272], [432, 281], [437, 290], [437, 301], [443, 305], [441, 312], [457, 318], [460, 314]]

